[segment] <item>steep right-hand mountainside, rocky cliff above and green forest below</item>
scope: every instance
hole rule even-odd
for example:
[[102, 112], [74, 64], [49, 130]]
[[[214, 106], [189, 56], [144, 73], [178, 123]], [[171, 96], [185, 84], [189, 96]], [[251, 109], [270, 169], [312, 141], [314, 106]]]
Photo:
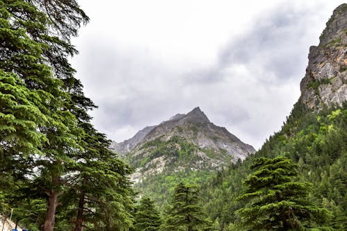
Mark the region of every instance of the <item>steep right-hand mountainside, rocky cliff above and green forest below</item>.
[[210, 218], [219, 230], [239, 230], [234, 212], [243, 205], [236, 198], [244, 191], [242, 182], [251, 173], [255, 157], [278, 155], [299, 164], [298, 180], [312, 183], [311, 200], [332, 212], [325, 226], [347, 230], [346, 22], [347, 4], [342, 4], [327, 23], [319, 46], [310, 49], [301, 97], [282, 129], [260, 151], [219, 171], [203, 185]]

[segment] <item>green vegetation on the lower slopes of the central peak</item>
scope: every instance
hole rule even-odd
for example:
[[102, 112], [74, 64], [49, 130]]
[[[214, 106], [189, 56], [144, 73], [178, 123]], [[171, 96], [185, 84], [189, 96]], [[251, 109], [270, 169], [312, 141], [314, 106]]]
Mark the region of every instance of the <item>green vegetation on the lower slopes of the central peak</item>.
[[[197, 155], [197, 153], [204, 153], [213, 160], [224, 160], [226, 163], [228, 160], [232, 160], [230, 155], [226, 155], [226, 150], [199, 148], [178, 136], [171, 137], [169, 140], [158, 137], [151, 142], [146, 142], [142, 146], [142, 150], [149, 152], [149, 155], [132, 157], [131, 164], [135, 167], [142, 167], [140, 169], [142, 173], [158, 169], [159, 166], [162, 171], [136, 182], [134, 187], [141, 194], [156, 200], [159, 207], [162, 208], [161, 210], [168, 203], [167, 195], [174, 191], [179, 182], [202, 185], [208, 182], [213, 172], [216, 171], [215, 166], [210, 166], [202, 155]], [[161, 157], [160, 160], [152, 161], [158, 157]]]

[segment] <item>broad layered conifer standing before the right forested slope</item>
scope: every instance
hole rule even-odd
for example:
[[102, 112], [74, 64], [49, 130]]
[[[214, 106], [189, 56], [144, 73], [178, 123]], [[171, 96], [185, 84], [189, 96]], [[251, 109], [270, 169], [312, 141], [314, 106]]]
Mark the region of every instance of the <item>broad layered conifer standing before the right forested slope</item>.
[[238, 197], [247, 204], [236, 212], [246, 230], [304, 230], [330, 216], [310, 203], [310, 184], [296, 182], [298, 165], [287, 157], [260, 157], [251, 169]]

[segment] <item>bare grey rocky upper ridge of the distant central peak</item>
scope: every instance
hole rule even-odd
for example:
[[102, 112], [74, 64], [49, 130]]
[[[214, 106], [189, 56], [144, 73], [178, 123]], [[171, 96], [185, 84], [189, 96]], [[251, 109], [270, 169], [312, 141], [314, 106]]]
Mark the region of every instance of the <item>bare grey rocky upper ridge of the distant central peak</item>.
[[[184, 128], [192, 130], [192, 132], [188, 132], [189, 134], [187, 134], [186, 131], [183, 132]], [[214, 144], [214, 142], [208, 141], [208, 137], [206, 135], [203, 136], [198, 134], [198, 128], [208, 132], [208, 137], [211, 139], [217, 140], [218, 137], [214, 136], [215, 134], [213, 134], [213, 132], [209, 132], [208, 130], [214, 130], [217, 132], [219, 137], [223, 137], [223, 139], [217, 140], [218, 144]], [[157, 126], [147, 126], [146, 128], [139, 130], [139, 132], [137, 132], [132, 138], [126, 139], [124, 142], [112, 142], [110, 149], [121, 155], [126, 155], [127, 153], [135, 150], [135, 148], [138, 149], [145, 142], [150, 142], [158, 137], [161, 137], [162, 135], [167, 135], [167, 132], [171, 133], [167, 139], [172, 136], [183, 136], [192, 140], [191, 136], [195, 134], [197, 136], [195, 142], [201, 148], [226, 148], [228, 153], [231, 154], [234, 152], [235, 155], [237, 155], [237, 158], [242, 160], [244, 160], [246, 157], [244, 153], [249, 154], [255, 152], [253, 146], [244, 144], [239, 138], [228, 132], [226, 128], [222, 128], [214, 125], [214, 123], [211, 123], [210, 119], [208, 119], [208, 117], [204, 112], [201, 111], [199, 107], [194, 108], [187, 114], [176, 114], [169, 120], [162, 121], [162, 123], [158, 124]], [[230, 145], [228, 145], [228, 143], [237, 144], [237, 147], [232, 148]]]

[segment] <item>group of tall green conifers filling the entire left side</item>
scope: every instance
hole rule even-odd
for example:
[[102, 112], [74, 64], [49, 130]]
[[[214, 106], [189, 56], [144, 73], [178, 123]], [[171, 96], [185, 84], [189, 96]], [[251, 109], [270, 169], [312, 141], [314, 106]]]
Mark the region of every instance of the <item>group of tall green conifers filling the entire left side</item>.
[[126, 230], [132, 170], [90, 123], [68, 58], [74, 0], [0, 1], [0, 213], [30, 230]]

